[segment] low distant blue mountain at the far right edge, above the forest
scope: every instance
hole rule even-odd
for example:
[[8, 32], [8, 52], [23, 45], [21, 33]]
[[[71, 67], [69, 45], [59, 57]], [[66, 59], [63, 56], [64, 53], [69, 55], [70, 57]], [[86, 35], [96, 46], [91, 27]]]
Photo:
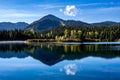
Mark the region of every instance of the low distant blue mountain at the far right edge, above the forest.
[[93, 26], [120, 26], [120, 23], [113, 22], [113, 21], [105, 21], [100, 23], [92, 23]]

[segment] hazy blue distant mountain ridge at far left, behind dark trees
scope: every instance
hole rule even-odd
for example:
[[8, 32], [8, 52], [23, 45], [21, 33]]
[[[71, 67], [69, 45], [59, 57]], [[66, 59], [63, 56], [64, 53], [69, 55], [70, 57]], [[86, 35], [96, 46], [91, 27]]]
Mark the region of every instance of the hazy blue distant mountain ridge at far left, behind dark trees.
[[0, 30], [24, 29], [26, 26], [28, 26], [28, 23], [25, 22], [0, 22]]

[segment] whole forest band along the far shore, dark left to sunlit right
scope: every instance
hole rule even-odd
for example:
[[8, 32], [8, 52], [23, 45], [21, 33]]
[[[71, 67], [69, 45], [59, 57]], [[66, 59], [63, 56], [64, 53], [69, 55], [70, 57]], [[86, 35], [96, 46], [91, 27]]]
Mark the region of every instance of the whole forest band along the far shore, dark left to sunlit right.
[[120, 27], [59, 26], [37, 32], [35, 32], [34, 29], [0, 31], [0, 41], [27, 39], [53, 39], [55, 41], [118, 41], [120, 39]]

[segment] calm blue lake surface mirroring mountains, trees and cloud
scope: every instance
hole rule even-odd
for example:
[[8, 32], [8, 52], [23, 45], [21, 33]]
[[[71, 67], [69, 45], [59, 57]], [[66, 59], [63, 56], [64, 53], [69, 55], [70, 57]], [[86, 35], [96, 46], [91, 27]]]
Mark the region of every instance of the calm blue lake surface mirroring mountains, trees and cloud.
[[0, 43], [0, 80], [120, 80], [120, 43]]

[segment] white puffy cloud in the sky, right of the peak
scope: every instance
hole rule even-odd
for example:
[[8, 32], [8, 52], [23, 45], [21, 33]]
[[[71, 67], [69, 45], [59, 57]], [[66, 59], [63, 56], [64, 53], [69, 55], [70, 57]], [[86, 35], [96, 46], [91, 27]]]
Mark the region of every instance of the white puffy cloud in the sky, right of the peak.
[[67, 5], [64, 11], [63, 9], [60, 9], [59, 11], [63, 12], [64, 15], [67, 15], [67, 16], [76, 16], [78, 10], [75, 5]]

